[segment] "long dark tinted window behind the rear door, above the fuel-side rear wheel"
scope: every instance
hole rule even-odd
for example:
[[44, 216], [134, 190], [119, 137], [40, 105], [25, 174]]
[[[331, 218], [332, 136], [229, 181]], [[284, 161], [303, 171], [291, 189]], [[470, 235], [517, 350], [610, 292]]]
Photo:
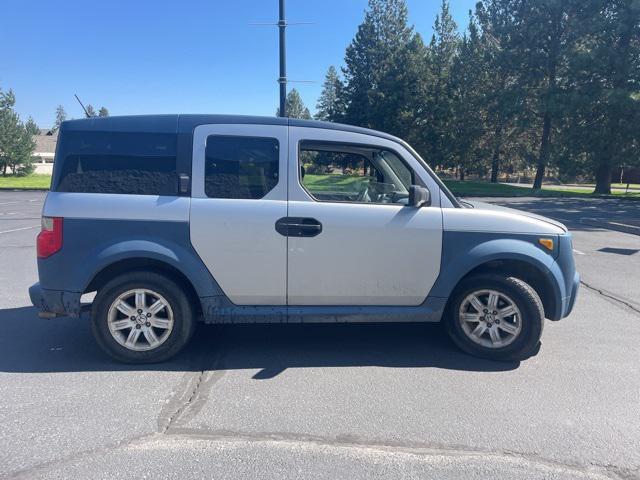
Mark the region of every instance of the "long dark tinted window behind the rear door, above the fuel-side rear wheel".
[[177, 195], [176, 135], [65, 132], [56, 190]]

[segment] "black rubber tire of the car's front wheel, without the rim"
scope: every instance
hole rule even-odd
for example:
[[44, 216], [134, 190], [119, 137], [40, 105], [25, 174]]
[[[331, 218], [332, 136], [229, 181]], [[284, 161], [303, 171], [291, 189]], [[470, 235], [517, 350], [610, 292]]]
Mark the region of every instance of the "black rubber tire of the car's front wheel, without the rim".
[[[485, 347], [472, 341], [464, 332], [460, 319], [460, 305], [471, 293], [490, 289], [507, 295], [521, 313], [521, 330], [512, 343], [504, 347]], [[524, 360], [540, 349], [544, 327], [544, 308], [536, 291], [515, 277], [485, 274], [464, 279], [450, 298], [445, 312], [445, 327], [453, 342], [463, 351], [492, 360]]]

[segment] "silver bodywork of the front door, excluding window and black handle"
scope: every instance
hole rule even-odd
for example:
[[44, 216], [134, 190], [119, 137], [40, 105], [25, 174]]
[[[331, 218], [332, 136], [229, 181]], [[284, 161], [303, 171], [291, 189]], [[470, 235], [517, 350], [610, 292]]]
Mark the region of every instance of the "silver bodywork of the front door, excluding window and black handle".
[[[299, 181], [302, 140], [361, 143], [400, 154], [431, 192], [432, 206], [317, 202]], [[400, 144], [369, 135], [289, 129], [290, 217], [322, 223], [316, 237], [288, 242], [289, 305], [419, 305], [440, 272], [440, 189]]]

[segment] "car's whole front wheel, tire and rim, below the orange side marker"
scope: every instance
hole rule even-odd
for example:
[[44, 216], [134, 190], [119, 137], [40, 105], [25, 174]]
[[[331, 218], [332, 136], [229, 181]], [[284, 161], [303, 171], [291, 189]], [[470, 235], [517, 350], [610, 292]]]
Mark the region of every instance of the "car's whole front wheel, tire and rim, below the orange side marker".
[[465, 352], [522, 360], [539, 348], [544, 309], [536, 291], [524, 281], [478, 275], [456, 288], [445, 321], [452, 340]]

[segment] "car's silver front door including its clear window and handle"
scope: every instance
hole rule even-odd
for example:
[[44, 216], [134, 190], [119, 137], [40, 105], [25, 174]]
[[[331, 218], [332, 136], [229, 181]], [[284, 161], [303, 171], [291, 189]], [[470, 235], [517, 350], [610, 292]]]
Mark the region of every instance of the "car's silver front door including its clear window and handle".
[[[419, 305], [440, 271], [439, 188], [400, 144], [289, 128], [289, 305]], [[420, 184], [431, 206], [407, 206]]]

